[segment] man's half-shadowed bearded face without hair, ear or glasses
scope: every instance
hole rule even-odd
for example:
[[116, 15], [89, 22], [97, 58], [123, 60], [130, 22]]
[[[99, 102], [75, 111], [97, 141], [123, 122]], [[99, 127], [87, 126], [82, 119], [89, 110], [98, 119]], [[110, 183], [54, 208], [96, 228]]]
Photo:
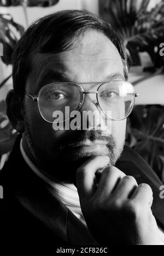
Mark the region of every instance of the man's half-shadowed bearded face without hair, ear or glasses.
[[[64, 82], [64, 78], [81, 83], [85, 92], [92, 92], [101, 84], [96, 82], [124, 80], [124, 67], [114, 44], [102, 33], [89, 31], [72, 50], [35, 55], [26, 92], [36, 96], [46, 84]], [[80, 113], [89, 110], [97, 110], [95, 94], [85, 94]], [[77, 168], [98, 155], [108, 155], [113, 166], [124, 146], [125, 129], [126, 120], [112, 121], [112, 130], [106, 133], [101, 127], [54, 130], [52, 123], [40, 116], [37, 103], [25, 96], [23, 145], [31, 160], [51, 178], [72, 182]]]

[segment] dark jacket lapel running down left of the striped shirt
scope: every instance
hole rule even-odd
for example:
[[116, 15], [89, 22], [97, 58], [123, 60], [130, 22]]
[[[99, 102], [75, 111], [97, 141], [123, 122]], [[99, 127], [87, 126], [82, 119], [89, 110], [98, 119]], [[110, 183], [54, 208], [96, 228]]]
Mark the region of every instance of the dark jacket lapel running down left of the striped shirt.
[[87, 227], [65, 204], [50, 194], [44, 181], [27, 166], [20, 152], [20, 139], [18, 136], [9, 161], [2, 170], [17, 200], [55, 236], [60, 237], [63, 244], [96, 244]]

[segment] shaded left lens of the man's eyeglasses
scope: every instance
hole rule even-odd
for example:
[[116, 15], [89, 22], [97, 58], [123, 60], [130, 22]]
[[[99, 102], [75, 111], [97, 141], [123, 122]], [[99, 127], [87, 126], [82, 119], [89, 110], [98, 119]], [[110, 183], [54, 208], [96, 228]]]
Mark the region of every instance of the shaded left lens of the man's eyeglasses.
[[49, 84], [49, 86], [45, 86], [40, 90], [38, 107], [44, 120], [50, 123], [55, 122], [54, 117], [57, 117], [58, 111], [61, 111], [62, 122], [68, 119], [66, 116], [68, 110], [70, 112], [77, 110], [81, 101], [83, 101], [83, 93], [75, 84]]

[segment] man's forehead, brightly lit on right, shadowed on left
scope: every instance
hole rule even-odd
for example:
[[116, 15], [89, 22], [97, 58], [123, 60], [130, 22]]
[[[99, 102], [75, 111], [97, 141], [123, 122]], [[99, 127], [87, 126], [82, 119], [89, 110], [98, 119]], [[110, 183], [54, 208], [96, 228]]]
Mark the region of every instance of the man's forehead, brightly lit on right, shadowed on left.
[[104, 81], [114, 73], [124, 77], [118, 50], [102, 33], [89, 31], [78, 47], [57, 54], [36, 54], [30, 80], [35, 88], [40, 88], [55, 81]]

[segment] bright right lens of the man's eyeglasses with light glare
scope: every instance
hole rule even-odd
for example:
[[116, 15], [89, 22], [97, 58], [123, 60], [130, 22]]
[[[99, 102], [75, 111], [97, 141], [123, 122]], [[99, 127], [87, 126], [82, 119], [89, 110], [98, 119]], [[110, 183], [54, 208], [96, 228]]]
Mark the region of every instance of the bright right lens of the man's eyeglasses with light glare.
[[134, 88], [132, 84], [113, 81], [102, 84], [97, 95], [101, 109], [113, 120], [123, 120], [131, 112], [134, 105]]

